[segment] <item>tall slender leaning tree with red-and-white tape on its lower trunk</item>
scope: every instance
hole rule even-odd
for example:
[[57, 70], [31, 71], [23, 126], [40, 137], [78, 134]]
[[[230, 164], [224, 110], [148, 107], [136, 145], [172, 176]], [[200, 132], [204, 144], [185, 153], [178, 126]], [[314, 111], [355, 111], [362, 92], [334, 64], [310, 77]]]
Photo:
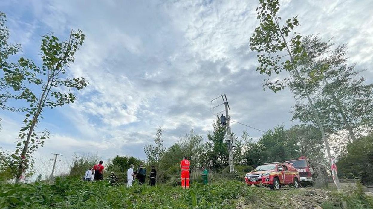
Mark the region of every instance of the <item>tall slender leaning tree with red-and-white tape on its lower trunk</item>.
[[[257, 19], [259, 19], [260, 24], [255, 28], [250, 38], [250, 49], [258, 52], [257, 57], [260, 65], [257, 67], [257, 71], [259, 71], [260, 74], [267, 74], [269, 77], [272, 73], [280, 74], [283, 71], [289, 72], [290, 77], [275, 79], [275, 81], [266, 80], [264, 86], [267, 86], [274, 92], [284, 89], [286, 82], [288, 82], [290, 78], [300, 82], [303, 87], [303, 92], [310, 104], [315, 122], [319, 126], [325, 141], [329, 165], [331, 166], [332, 156], [330, 154], [329, 142], [322, 123], [320, 122], [319, 114], [314, 108], [310, 92], [308, 92], [306, 83], [297, 69], [298, 62], [308, 57], [307, 52], [303, 50], [301, 45], [300, 34], [293, 32], [294, 27], [300, 25], [297, 16], [287, 19], [283, 25], [281, 25], [281, 18], [277, 15], [280, 9], [279, 1], [259, 0], [259, 3], [260, 6], [257, 7], [256, 11]], [[283, 76], [283, 73], [280, 76]], [[340, 188], [338, 177], [336, 178], [337, 188]]]

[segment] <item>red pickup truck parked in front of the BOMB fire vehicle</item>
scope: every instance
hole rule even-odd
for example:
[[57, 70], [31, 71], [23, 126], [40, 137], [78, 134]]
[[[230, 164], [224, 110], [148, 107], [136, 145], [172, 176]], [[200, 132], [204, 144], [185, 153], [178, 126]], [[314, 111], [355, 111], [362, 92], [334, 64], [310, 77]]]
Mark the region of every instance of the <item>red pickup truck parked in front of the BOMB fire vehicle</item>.
[[281, 185], [291, 185], [299, 188], [300, 176], [292, 165], [285, 165], [279, 162], [265, 163], [256, 167], [250, 173], [246, 173], [245, 182], [247, 185], [267, 186], [273, 190], [279, 190]]

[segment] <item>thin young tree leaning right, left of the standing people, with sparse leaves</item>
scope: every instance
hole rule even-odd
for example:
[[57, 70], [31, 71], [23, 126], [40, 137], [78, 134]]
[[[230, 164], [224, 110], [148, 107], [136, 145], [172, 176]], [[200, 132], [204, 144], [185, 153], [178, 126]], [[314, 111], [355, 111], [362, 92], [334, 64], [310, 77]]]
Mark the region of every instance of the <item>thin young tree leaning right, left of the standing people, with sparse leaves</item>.
[[41, 39], [42, 64], [38, 66], [30, 59], [19, 58], [18, 64], [3, 66], [3, 90], [19, 92], [21, 99], [29, 103], [26, 110], [24, 126], [19, 132], [20, 142], [12, 157], [19, 162], [16, 182], [22, 173], [34, 165], [32, 153], [43, 146], [48, 138], [47, 130], [40, 133], [35, 128], [45, 107], [54, 108], [72, 103], [76, 97], [73, 89], [80, 90], [87, 86], [84, 78], [69, 78], [66, 76], [69, 65], [74, 62], [74, 56], [79, 46], [83, 44], [85, 35], [82, 31], [71, 31], [68, 40], [60, 42], [56, 36], [45, 35]]

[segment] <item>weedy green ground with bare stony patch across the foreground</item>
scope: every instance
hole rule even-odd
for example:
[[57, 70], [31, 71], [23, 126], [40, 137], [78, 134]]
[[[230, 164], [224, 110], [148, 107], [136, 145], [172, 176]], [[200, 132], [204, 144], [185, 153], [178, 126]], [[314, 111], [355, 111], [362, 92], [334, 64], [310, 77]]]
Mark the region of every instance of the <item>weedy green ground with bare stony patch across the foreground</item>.
[[373, 199], [358, 188], [344, 194], [301, 188], [271, 191], [243, 182], [194, 183], [181, 187], [134, 184], [111, 186], [106, 181], [84, 182], [57, 178], [53, 184], [0, 183], [0, 208], [373, 208]]

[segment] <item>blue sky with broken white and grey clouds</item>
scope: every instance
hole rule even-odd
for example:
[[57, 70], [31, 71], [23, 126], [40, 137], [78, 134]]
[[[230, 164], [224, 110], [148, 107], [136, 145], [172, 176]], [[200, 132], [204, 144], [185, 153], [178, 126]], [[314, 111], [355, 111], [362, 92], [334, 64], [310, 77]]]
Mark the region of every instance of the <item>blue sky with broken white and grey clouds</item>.
[[[88, 3], [89, 2], [89, 3]], [[320, 34], [348, 43], [350, 62], [373, 79], [373, 1], [281, 0], [283, 19], [298, 15], [302, 35]], [[51, 138], [38, 155], [97, 153], [103, 159], [131, 155], [145, 159], [143, 147], [162, 126], [164, 143], [171, 145], [186, 131], [206, 135], [216, 113], [211, 108], [226, 94], [231, 119], [269, 130], [290, 127], [288, 90], [263, 91], [256, 53], [249, 38], [257, 26], [251, 0], [175, 1], [0, 1], [7, 14], [11, 41], [22, 44], [22, 56], [40, 62], [40, 39], [54, 33], [67, 39], [81, 29], [86, 40], [71, 65], [71, 76], [90, 86], [77, 101], [44, 112], [39, 128]], [[23, 115], [0, 112], [0, 146], [12, 149]], [[261, 132], [232, 123], [241, 135]]]

